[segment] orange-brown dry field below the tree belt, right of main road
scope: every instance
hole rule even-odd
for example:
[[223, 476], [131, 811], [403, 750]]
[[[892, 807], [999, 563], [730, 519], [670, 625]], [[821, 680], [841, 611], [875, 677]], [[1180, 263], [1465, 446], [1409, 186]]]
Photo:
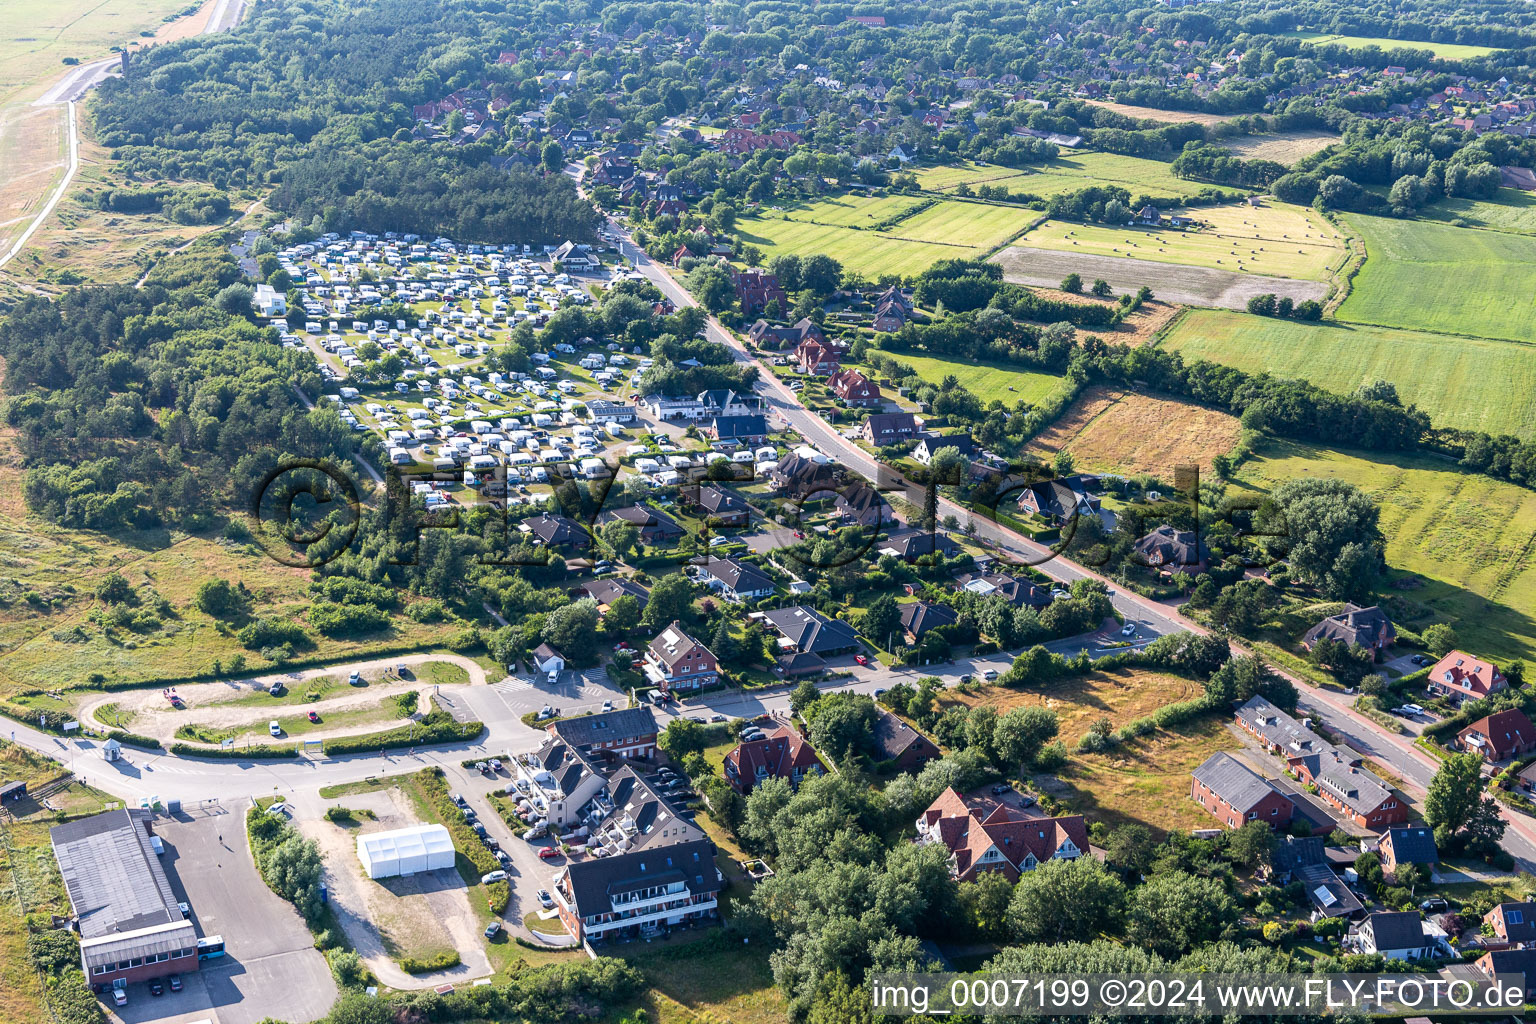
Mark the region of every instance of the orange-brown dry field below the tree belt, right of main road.
[[1212, 456], [1230, 451], [1241, 430], [1235, 416], [1215, 408], [1095, 385], [1029, 450], [1046, 459], [1066, 450], [1083, 470], [1170, 479], [1175, 465], [1209, 471]]

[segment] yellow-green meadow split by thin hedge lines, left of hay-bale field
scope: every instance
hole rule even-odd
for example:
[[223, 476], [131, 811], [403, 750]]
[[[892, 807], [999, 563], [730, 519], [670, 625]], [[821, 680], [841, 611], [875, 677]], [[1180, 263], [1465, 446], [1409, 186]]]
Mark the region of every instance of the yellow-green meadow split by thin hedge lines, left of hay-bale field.
[[[1012, 206], [943, 201], [905, 220], [922, 201], [906, 197], [848, 198], [743, 218], [743, 243], [765, 258], [825, 253], [869, 276], [915, 275], [938, 259], [980, 258], [1025, 230], [1038, 213]], [[885, 224], [882, 230], [874, 230]]]

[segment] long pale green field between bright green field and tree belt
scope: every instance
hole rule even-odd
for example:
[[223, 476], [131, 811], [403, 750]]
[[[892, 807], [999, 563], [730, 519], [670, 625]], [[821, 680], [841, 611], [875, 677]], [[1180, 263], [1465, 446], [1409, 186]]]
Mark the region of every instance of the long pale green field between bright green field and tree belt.
[[1392, 381], [1405, 405], [1442, 427], [1536, 436], [1536, 345], [1224, 310], [1190, 310], [1161, 344], [1341, 395]]

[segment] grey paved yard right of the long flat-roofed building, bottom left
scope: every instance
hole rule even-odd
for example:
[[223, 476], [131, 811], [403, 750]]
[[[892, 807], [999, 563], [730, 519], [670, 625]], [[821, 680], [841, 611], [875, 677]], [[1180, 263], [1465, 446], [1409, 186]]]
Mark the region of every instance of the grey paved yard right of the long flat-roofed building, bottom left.
[[336, 983], [298, 910], [257, 874], [246, 843], [247, 806], [243, 800], [227, 809], [206, 804], [155, 821], [170, 887], [192, 906], [198, 935], [224, 936], [227, 955], [203, 961], [198, 981], [218, 1024], [269, 1016], [313, 1021], [330, 1010]]

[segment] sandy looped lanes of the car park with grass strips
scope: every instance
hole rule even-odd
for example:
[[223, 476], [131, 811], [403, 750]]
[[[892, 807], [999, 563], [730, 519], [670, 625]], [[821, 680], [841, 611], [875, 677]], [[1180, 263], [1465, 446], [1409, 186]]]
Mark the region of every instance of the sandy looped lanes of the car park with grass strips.
[[[470, 685], [484, 686], [487, 682], [485, 671], [475, 663], [472, 659], [458, 654], [407, 654], [404, 657], [393, 659], [378, 659], [373, 662], [358, 662], [353, 665], [332, 665], [327, 668], [306, 669], [301, 672], [286, 672], [276, 676], [261, 676], [255, 679], [244, 680], [229, 680], [215, 683], [194, 683], [190, 686], [177, 686], [177, 694], [186, 703], [187, 711], [174, 711], [166, 700], [163, 691], [158, 689], [132, 689], [121, 691], [115, 694], [106, 694], [80, 709], [81, 718], [95, 728], [111, 729], [115, 728], [111, 722], [103, 722], [97, 717], [97, 711], [108, 705], [117, 705], [123, 712], [131, 712], [134, 715], [132, 722], [124, 726], [131, 732], [138, 732], [141, 735], [152, 735], [157, 740], [172, 742], [175, 738], [175, 731], [183, 725], [198, 725], [212, 729], [227, 729], [250, 726], [252, 729], [264, 728], [263, 723], [270, 722], [273, 717], [284, 717], [293, 714], [303, 714], [307, 709], [319, 709], [321, 712], [338, 712], [349, 711], [355, 708], [364, 708], [375, 705], [381, 700], [387, 700], [396, 694], [419, 689], [422, 691], [421, 702], [418, 703], [418, 712], [430, 711], [429, 697], [425, 689], [430, 683], [424, 683], [421, 679], [399, 679], [384, 676], [386, 669], [393, 669], [396, 665], [418, 666], [429, 665], [433, 662], [456, 665], [462, 668], [468, 677]], [[366, 689], [349, 689], [346, 685], [347, 676], [352, 671], [359, 671], [364, 676], [370, 676], [369, 686]], [[266, 691], [270, 688], [273, 680], [281, 680], [289, 691], [303, 689], [303, 685], [324, 677], [335, 677], [341, 686], [336, 695], [321, 697], [318, 702], [293, 702], [293, 703], [257, 703], [257, 705], [233, 705], [232, 702], [247, 697], [250, 694]], [[392, 682], [382, 682], [390, 679]], [[379, 729], [382, 723], [364, 723], [353, 726], [338, 726], [335, 729], [316, 729], [306, 734], [306, 738], [326, 738], [333, 735], [352, 735], [358, 732], [372, 732]]]

